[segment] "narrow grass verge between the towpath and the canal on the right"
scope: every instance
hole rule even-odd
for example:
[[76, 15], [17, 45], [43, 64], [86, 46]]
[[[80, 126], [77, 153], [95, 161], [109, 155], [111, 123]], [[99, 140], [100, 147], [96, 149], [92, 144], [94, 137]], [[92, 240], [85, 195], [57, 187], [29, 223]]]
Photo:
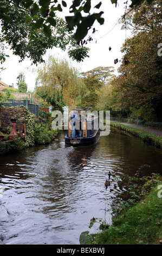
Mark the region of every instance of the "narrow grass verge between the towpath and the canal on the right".
[[145, 132], [142, 131], [140, 129], [134, 128], [134, 127], [129, 127], [123, 124], [119, 124], [119, 123], [111, 123], [110, 124], [113, 127], [116, 127], [118, 129], [127, 131], [129, 133], [131, 133], [134, 136], [137, 136], [141, 139], [143, 139], [144, 141], [147, 141], [149, 143], [152, 143], [153, 145], [162, 148], [162, 137], [158, 136], [158, 135], [153, 135], [150, 132]]

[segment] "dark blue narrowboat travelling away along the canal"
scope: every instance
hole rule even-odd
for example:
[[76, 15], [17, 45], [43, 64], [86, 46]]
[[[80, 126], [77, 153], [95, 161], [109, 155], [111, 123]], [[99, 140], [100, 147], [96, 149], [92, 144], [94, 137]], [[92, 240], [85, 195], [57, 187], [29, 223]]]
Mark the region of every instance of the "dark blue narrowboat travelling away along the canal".
[[[67, 135], [65, 136], [65, 144], [73, 147], [86, 146], [96, 143], [100, 136], [100, 127], [98, 116], [89, 115], [82, 121], [81, 136], [72, 137], [72, 124], [69, 121]], [[98, 125], [96, 125], [98, 123]]]

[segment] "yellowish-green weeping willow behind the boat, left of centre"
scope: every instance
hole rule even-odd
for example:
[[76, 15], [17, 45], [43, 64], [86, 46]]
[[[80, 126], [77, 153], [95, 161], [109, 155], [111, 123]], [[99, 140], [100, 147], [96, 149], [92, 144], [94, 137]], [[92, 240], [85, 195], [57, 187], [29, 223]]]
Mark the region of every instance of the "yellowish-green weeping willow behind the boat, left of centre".
[[48, 60], [36, 70], [36, 93], [56, 109], [63, 105], [75, 107], [86, 87], [67, 59], [49, 55]]

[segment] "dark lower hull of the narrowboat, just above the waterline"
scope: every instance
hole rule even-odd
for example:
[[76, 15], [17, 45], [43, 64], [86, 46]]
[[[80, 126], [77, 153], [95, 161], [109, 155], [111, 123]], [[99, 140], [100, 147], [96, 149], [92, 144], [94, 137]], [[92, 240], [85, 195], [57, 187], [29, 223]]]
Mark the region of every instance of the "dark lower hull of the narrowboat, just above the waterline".
[[100, 129], [96, 131], [93, 136], [86, 137], [86, 138], [83, 138], [83, 137], [70, 138], [65, 136], [65, 143], [66, 145], [73, 146], [73, 147], [92, 145], [96, 143], [99, 136], [100, 136]]

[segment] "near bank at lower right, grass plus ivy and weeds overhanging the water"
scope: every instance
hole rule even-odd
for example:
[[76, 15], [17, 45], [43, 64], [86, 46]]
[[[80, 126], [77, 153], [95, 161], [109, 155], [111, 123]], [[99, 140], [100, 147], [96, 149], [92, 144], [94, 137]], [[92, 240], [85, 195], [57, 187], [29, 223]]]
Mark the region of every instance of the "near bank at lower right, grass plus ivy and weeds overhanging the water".
[[[145, 183], [141, 186], [134, 183], [139, 180], [125, 176], [128, 188], [121, 192], [113, 203], [114, 216], [112, 224], [100, 220], [99, 231], [80, 235], [80, 243], [85, 245], [160, 245], [162, 243], [162, 177], [152, 174], [142, 178]], [[133, 184], [132, 184], [133, 181]], [[97, 222], [90, 221], [89, 228]]]

